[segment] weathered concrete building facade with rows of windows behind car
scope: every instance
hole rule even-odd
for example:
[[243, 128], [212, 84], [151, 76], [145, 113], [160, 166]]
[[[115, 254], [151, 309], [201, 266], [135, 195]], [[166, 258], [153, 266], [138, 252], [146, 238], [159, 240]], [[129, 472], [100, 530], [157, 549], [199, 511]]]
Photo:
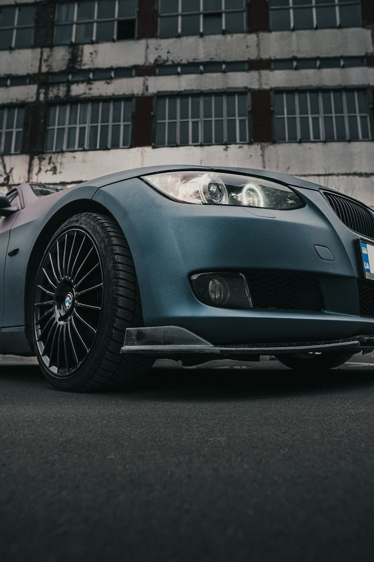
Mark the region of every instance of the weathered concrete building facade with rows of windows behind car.
[[264, 168], [374, 207], [373, 0], [0, 0], [0, 187]]

